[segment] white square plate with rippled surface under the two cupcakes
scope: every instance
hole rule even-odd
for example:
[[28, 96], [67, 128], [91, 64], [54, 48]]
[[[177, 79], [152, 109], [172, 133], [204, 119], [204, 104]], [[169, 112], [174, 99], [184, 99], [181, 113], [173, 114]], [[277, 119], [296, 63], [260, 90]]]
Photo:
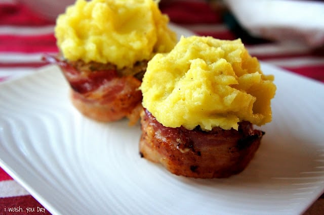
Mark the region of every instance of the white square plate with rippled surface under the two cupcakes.
[[139, 124], [71, 105], [56, 66], [0, 84], [0, 165], [54, 214], [298, 214], [324, 191], [324, 85], [267, 64], [273, 121], [226, 179], [170, 174], [139, 155]]

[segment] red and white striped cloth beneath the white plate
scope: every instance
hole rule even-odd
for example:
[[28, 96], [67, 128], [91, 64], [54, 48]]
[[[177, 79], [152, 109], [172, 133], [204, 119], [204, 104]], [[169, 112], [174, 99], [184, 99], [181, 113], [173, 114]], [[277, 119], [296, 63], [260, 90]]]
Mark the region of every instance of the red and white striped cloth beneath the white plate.
[[[210, 35], [220, 39], [235, 39], [240, 35], [230, 30], [222, 16], [205, 1], [161, 1], [160, 7], [173, 23], [198, 35]], [[43, 53], [56, 53], [55, 23], [30, 11], [14, 1], [0, 0], [0, 82], [26, 75], [35, 68], [46, 65]], [[252, 56], [263, 62], [287, 69], [290, 72], [324, 82], [324, 49], [317, 50], [289, 43], [258, 43], [251, 38], [244, 40]], [[1, 93], [1, 92], [0, 92]], [[306, 214], [317, 214], [324, 208], [318, 199]], [[43, 207], [23, 187], [0, 168], [0, 214], [9, 207]], [[324, 212], [324, 211], [322, 211]], [[39, 212], [39, 214], [44, 214]], [[15, 214], [24, 214], [15, 213]], [[34, 212], [33, 214], [37, 214]], [[45, 214], [50, 214], [48, 210]], [[318, 213], [319, 214], [319, 213]]]

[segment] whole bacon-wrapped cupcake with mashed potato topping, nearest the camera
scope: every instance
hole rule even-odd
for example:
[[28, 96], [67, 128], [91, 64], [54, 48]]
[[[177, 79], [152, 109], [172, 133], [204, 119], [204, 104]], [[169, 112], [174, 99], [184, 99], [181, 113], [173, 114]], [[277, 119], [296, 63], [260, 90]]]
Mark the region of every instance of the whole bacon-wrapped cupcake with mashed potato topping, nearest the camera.
[[240, 39], [182, 37], [147, 66], [140, 154], [171, 173], [223, 178], [244, 170], [271, 121], [276, 86]]

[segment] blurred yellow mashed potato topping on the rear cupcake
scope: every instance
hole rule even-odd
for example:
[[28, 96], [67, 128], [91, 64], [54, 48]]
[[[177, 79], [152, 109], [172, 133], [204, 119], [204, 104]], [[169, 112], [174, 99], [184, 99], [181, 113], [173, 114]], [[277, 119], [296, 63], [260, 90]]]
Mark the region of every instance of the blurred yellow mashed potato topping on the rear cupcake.
[[55, 36], [70, 60], [113, 63], [117, 68], [170, 51], [176, 34], [153, 0], [77, 0], [56, 21]]

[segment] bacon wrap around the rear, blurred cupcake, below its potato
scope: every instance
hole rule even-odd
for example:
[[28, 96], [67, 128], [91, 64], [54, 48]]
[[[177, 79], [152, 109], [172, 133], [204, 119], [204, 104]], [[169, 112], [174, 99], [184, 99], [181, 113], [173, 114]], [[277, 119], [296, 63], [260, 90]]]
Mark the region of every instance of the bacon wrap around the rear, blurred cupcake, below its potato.
[[112, 64], [67, 62], [51, 56], [46, 60], [61, 68], [71, 86], [71, 101], [83, 115], [101, 122], [124, 117], [130, 119], [130, 125], [138, 121], [142, 109], [139, 86], [146, 62], [117, 70]]

